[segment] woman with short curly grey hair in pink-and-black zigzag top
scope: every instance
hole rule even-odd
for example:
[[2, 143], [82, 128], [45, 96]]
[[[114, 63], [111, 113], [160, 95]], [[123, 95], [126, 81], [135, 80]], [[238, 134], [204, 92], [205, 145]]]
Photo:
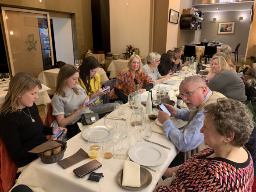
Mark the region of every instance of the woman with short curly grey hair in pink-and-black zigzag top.
[[184, 164], [168, 168], [164, 177], [177, 177], [157, 192], [250, 192], [253, 184], [252, 157], [243, 147], [255, 123], [247, 107], [232, 99], [220, 98], [205, 107], [200, 132], [210, 146]]

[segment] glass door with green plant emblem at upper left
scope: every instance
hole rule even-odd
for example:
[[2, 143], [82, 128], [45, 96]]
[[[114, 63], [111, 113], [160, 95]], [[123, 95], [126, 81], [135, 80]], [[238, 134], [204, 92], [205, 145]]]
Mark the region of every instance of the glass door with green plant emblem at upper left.
[[37, 78], [53, 65], [49, 13], [11, 7], [1, 9], [12, 76], [28, 72]]

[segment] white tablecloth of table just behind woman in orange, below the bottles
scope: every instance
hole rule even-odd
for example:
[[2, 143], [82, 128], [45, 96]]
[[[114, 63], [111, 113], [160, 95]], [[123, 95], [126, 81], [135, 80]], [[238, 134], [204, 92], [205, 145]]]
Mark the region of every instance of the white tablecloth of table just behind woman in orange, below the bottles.
[[128, 61], [125, 59], [113, 60], [107, 68], [107, 71], [110, 71], [109, 78], [116, 78], [119, 72], [127, 67]]

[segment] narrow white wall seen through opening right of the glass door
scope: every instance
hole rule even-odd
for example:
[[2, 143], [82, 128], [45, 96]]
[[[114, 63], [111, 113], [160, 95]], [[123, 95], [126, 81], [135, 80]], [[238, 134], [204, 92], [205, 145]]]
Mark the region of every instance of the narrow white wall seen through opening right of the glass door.
[[54, 18], [53, 32], [57, 61], [74, 64], [74, 50], [70, 18]]

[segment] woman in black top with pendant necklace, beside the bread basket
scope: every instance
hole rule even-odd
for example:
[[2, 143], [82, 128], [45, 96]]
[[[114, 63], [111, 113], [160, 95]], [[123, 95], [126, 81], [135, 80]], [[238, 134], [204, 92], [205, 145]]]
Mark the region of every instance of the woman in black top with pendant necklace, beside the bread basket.
[[46, 135], [58, 134], [64, 129], [43, 125], [35, 104], [39, 89], [42, 85], [38, 79], [28, 73], [17, 73], [11, 78], [0, 108], [0, 134], [20, 171], [38, 158], [35, 153], [28, 153], [29, 150], [46, 142]]

